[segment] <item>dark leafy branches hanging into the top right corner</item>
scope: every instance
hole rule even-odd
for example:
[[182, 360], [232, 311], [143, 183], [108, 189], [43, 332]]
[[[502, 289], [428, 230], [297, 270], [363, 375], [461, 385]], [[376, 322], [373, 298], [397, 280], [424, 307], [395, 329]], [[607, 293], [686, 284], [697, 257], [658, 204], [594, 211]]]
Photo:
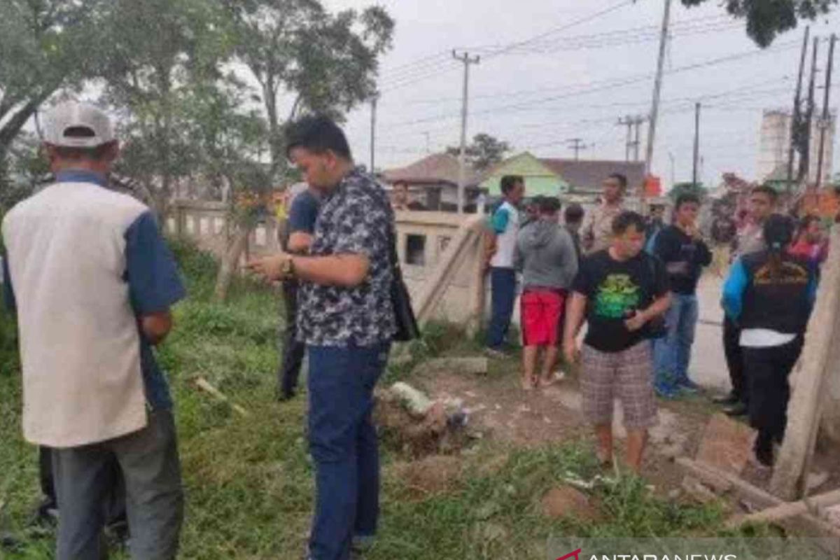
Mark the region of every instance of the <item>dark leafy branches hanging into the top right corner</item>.
[[[708, 0], [682, 0], [685, 6], [698, 6]], [[727, 12], [747, 20], [747, 34], [766, 47], [779, 35], [795, 29], [800, 19], [814, 20], [829, 13], [840, 0], [726, 0]]]

